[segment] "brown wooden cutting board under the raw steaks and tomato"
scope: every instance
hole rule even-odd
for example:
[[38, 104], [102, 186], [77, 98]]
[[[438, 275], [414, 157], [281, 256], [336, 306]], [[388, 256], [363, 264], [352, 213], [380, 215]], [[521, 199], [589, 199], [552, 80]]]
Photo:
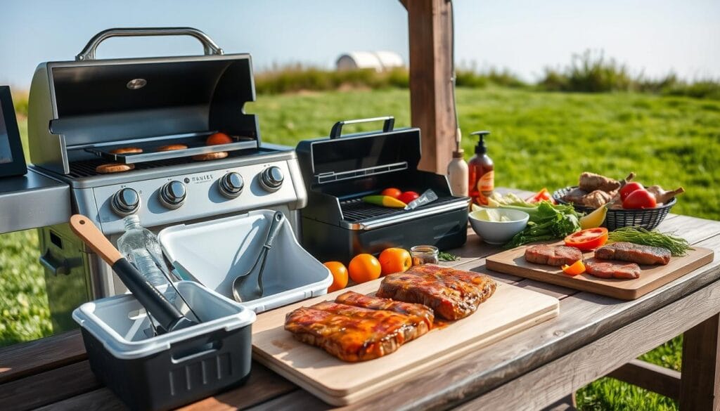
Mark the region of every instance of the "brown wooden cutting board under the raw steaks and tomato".
[[[562, 245], [562, 242], [555, 244]], [[713, 250], [698, 247], [688, 251], [687, 256], [670, 258], [667, 266], [640, 266], [642, 273], [639, 279], [600, 279], [590, 274], [567, 276], [559, 267], [528, 263], [525, 260], [525, 249], [528, 246], [521, 245], [518, 248], [487, 257], [485, 266], [500, 273], [513, 274], [526, 279], [557, 284], [608, 297], [636, 299], [710, 263], [714, 258]], [[592, 251], [585, 253], [585, 258], [593, 255]]]

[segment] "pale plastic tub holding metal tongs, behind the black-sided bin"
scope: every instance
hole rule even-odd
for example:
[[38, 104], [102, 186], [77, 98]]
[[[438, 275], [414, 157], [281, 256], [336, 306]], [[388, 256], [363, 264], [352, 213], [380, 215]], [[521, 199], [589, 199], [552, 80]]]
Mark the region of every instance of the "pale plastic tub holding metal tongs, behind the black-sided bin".
[[[167, 227], [158, 234], [163, 252], [204, 286], [233, 299], [233, 280], [246, 273], [260, 254], [274, 215], [262, 209], [248, 214]], [[267, 255], [263, 296], [245, 307], [263, 312], [326, 294], [333, 275], [297, 242], [287, 220]]]

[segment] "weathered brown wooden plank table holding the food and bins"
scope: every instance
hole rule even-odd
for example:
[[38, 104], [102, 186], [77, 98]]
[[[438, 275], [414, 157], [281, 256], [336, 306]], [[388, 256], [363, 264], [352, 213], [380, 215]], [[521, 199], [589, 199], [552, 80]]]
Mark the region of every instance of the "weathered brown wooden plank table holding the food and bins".
[[[720, 250], [720, 222], [670, 214], [660, 230]], [[485, 256], [498, 250], [472, 234], [464, 247], [451, 250], [462, 258], [448, 265], [556, 296], [559, 317], [347, 409], [536, 410], [606, 374], [676, 398], [681, 410], [720, 409], [720, 258], [640, 299], [620, 301], [487, 271]], [[634, 359], [682, 333], [682, 374]], [[1, 350], [0, 405], [4, 410], [125, 408], [94, 378], [78, 332]], [[253, 363], [245, 386], [186, 407], [240, 408], [330, 406]]]

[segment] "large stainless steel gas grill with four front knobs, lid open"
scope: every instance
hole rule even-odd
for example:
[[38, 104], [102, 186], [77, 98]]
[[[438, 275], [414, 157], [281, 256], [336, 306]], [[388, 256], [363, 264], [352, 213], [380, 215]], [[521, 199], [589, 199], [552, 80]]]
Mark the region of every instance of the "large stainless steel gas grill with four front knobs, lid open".
[[[190, 35], [202, 42], [205, 55], [94, 60], [103, 40], [138, 35]], [[93, 220], [112, 243], [127, 214], [138, 214], [144, 227], [158, 232], [276, 209], [297, 229], [296, 210], [307, 199], [297, 157], [294, 150], [261, 143], [256, 115], [243, 111], [254, 100], [251, 56], [226, 55], [199, 30], [106, 30], [76, 61], [38, 66], [28, 112], [32, 169], [68, 184], [73, 212]], [[232, 142], [206, 145], [214, 132], [225, 132]], [[187, 148], [158, 150], [171, 144]], [[143, 153], [111, 153], [124, 147]], [[228, 156], [193, 158], [221, 151]], [[98, 173], [104, 163], [134, 168]], [[40, 248], [55, 332], [75, 326], [70, 313], [82, 302], [125, 292], [67, 224], [40, 229]]]

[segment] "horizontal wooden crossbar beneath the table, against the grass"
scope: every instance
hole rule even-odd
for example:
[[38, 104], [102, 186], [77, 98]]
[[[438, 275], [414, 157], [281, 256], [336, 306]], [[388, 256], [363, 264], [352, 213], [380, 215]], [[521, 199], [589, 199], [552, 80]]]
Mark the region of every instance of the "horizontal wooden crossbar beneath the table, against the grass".
[[677, 400], [680, 398], [680, 372], [641, 360], [633, 360], [607, 376]]

